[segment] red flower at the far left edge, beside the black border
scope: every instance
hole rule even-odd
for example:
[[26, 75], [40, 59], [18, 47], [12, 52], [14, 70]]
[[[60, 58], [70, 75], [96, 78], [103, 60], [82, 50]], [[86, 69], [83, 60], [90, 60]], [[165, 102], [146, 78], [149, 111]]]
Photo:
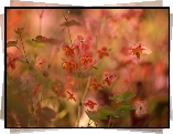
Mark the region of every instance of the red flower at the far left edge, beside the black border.
[[19, 56], [9, 55], [7, 59], [7, 65], [10, 66], [12, 70], [15, 69], [15, 62], [19, 60]]

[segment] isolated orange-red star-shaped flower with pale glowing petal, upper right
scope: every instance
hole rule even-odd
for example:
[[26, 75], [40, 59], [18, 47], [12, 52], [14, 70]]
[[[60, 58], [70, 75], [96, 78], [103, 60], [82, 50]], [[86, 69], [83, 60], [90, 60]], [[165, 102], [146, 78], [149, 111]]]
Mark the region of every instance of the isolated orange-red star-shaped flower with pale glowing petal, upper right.
[[147, 53], [150, 54], [152, 51], [148, 49], [144, 44], [139, 43], [134, 48], [130, 48], [130, 54], [132, 53], [133, 55], [137, 55], [138, 59], [140, 59], [141, 53]]

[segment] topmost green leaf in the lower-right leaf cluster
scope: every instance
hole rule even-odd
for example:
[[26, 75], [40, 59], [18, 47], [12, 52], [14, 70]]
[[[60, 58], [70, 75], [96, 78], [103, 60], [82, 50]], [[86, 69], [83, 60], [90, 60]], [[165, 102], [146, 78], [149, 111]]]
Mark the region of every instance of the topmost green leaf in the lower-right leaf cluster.
[[130, 91], [127, 91], [120, 95], [116, 95], [116, 96], [112, 96], [112, 97], [109, 97], [110, 100], [113, 100], [116, 102], [123, 102], [123, 101], [128, 101], [128, 100], [131, 100], [133, 99], [136, 95], [130, 92]]

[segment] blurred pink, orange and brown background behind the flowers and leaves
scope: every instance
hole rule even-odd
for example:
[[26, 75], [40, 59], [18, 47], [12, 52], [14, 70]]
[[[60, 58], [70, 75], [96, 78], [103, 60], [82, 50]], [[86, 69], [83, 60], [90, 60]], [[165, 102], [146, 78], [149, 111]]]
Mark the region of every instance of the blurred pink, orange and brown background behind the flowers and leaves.
[[[98, 103], [97, 106], [111, 106], [113, 104], [109, 100], [110, 95], [131, 91], [137, 94], [133, 102], [147, 102], [148, 114], [138, 117], [134, 113], [129, 113], [112, 118], [113, 127], [169, 127], [167, 9], [8, 9], [7, 42], [18, 40], [22, 52], [23, 42], [30, 64], [28, 65], [15, 47], [7, 49], [8, 54], [20, 56], [15, 69], [7, 70], [11, 81], [8, 80], [7, 86], [7, 126], [75, 126], [78, 106], [76, 102], [67, 101], [64, 85], [68, 83], [68, 74], [62, 69], [62, 58], [69, 59], [65, 55], [63, 47], [71, 44], [63, 13], [68, 20], [76, 22], [68, 24], [72, 42], [77, 35], [89, 40], [89, 52], [94, 59], [98, 59], [96, 51], [102, 47], [109, 50], [109, 56], [97, 62], [98, 70], [93, 69], [83, 74], [83, 86], [86, 86], [87, 78], [91, 74], [97, 75], [100, 82], [106, 71], [118, 75], [110, 87], [104, 86], [97, 93], [89, 90], [86, 100], [94, 100]], [[21, 41], [14, 30], [23, 27]], [[37, 35], [54, 39], [54, 42], [35, 44], [32, 39]], [[137, 60], [136, 55], [129, 55], [127, 49], [138, 43], [145, 44], [152, 53], [142, 53], [140, 60]], [[37, 55], [45, 59], [43, 66], [48, 72], [47, 78], [35, 69]], [[72, 76], [75, 78], [74, 74]], [[40, 94], [35, 97], [32, 95], [34, 85], [39, 83], [43, 94], [41, 105], [36, 105]], [[77, 87], [74, 87], [73, 93], [78, 99]], [[86, 127], [89, 121], [86, 110], [85, 106], [82, 109], [83, 127]], [[108, 121], [101, 123], [107, 124]]]

